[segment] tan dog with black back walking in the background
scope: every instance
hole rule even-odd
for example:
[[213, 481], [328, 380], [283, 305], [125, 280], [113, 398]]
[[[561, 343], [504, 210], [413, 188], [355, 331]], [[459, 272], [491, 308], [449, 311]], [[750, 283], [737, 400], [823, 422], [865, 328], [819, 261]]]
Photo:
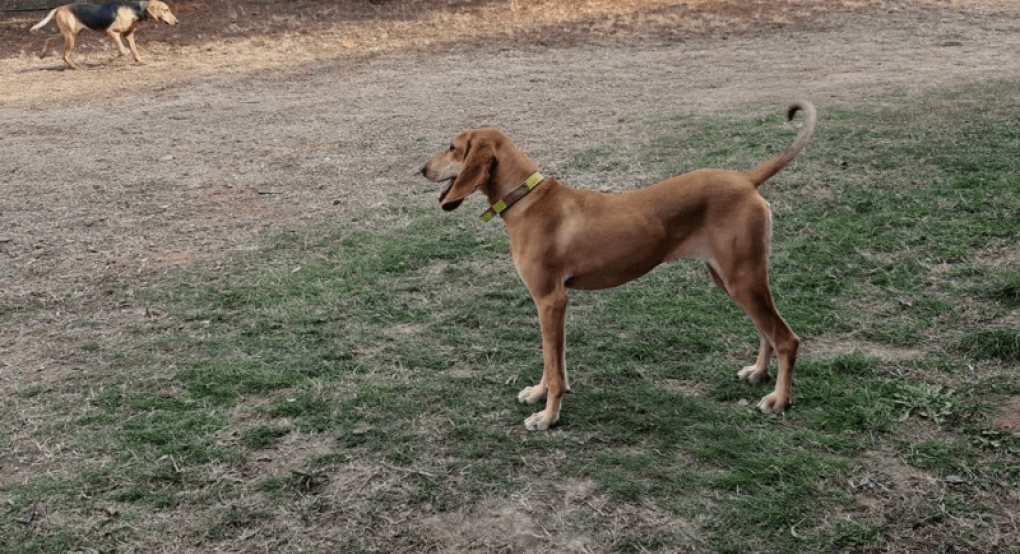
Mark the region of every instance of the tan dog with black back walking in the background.
[[[80, 68], [71, 61], [70, 54], [74, 50], [79, 34], [86, 28], [106, 33], [106, 36], [120, 51], [120, 55], [126, 56], [128, 49], [120, 41], [120, 36], [123, 35], [128, 39], [128, 44], [131, 45], [131, 53], [135, 56], [135, 61], [139, 65], [145, 65], [145, 59], [142, 58], [142, 54], [139, 53], [138, 46], [135, 44], [135, 32], [138, 30], [139, 23], [151, 19], [157, 23], [165, 21], [171, 26], [177, 24], [177, 18], [170, 12], [169, 6], [158, 0], [143, 0], [141, 2], [110, 2], [101, 6], [67, 4], [52, 9], [30, 32], [39, 31], [50, 22], [50, 19], [56, 19], [57, 27], [60, 28], [60, 35], [63, 36], [64, 40], [63, 60], [71, 69]], [[50, 42], [56, 38], [46, 39], [43, 52], [39, 57], [46, 57], [46, 52], [50, 49]]]

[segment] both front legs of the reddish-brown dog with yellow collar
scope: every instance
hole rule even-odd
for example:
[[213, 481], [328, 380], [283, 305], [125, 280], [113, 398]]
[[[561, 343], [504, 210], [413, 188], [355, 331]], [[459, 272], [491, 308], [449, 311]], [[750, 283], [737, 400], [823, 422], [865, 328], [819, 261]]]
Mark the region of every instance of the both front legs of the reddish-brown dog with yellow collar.
[[546, 431], [560, 418], [563, 395], [570, 392], [567, 382], [565, 332], [567, 293], [557, 288], [549, 294], [534, 295], [542, 325], [542, 381], [527, 387], [517, 395], [517, 400], [532, 404], [546, 399], [546, 409], [524, 420], [528, 431]]

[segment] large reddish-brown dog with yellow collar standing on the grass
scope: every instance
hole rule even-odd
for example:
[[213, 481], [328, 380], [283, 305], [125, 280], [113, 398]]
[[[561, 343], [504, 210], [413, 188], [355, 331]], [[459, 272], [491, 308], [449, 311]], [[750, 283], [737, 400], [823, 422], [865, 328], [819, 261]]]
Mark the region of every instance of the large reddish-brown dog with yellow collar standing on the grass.
[[772, 303], [768, 255], [772, 213], [758, 187], [804, 149], [815, 129], [815, 108], [789, 106], [786, 117], [804, 112], [797, 139], [779, 154], [748, 171], [697, 169], [619, 195], [573, 189], [538, 167], [496, 129], [461, 132], [450, 148], [421, 168], [435, 183], [444, 210], [456, 209], [480, 190], [510, 234], [513, 261], [539, 308], [544, 370], [542, 381], [517, 395], [525, 403], [546, 399], [546, 409], [524, 420], [529, 431], [547, 430], [560, 416], [570, 392], [564, 358], [567, 289], [605, 289], [636, 279], [680, 256], [704, 259], [712, 280], [751, 317], [761, 335], [754, 365], [737, 372], [757, 383], [768, 376], [775, 353], [775, 391], [758, 403], [764, 412], [789, 406], [800, 339]]

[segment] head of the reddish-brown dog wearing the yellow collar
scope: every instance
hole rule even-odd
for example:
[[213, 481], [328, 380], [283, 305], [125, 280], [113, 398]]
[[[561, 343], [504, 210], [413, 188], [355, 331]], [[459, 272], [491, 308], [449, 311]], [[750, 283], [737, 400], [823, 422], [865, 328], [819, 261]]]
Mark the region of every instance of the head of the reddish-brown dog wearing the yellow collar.
[[432, 183], [449, 182], [440, 193], [440, 207], [455, 210], [471, 193], [487, 187], [506, 142], [506, 135], [497, 129], [468, 129], [450, 141], [450, 148], [432, 156], [421, 174]]

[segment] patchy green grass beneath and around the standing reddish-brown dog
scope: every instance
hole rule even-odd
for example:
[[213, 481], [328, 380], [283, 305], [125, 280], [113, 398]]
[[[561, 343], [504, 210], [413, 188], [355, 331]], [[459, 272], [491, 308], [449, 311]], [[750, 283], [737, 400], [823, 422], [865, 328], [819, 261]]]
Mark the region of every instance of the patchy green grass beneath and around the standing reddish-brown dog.
[[[168, 279], [145, 299], [168, 316], [20, 391], [71, 454], [0, 485], [0, 550], [1017, 552], [1020, 440], [992, 420], [1020, 396], [1018, 85], [819, 106], [762, 189], [806, 339], [785, 414], [753, 410], [756, 333], [681, 262], [572, 295], [577, 394], [523, 432], [541, 337], [506, 235], [401, 198]], [[792, 140], [775, 112], [632, 122], [550, 172], [747, 167]]]

